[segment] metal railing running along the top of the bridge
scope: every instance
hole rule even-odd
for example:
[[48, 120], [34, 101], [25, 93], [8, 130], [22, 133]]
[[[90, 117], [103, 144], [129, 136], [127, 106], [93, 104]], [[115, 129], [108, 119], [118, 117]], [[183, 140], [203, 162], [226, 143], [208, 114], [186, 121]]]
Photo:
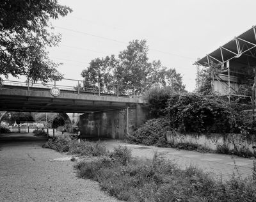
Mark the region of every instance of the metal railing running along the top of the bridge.
[[[73, 82], [72, 85], [61, 85], [58, 82]], [[76, 83], [75, 83], [76, 82]], [[57, 87], [65, 93], [76, 94], [93, 94], [93, 95], [105, 95], [116, 97], [131, 97], [131, 96], [144, 96], [148, 88], [142, 88], [138, 86], [126, 86], [120, 84], [108, 84], [102, 82], [89, 82], [76, 79], [62, 79], [61, 81], [54, 81], [52, 83], [34, 83], [34, 82], [22, 82], [22, 81], [3, 81], [3, 88], [26, 88], [28, 90], [46, 91], [52, 87]]]

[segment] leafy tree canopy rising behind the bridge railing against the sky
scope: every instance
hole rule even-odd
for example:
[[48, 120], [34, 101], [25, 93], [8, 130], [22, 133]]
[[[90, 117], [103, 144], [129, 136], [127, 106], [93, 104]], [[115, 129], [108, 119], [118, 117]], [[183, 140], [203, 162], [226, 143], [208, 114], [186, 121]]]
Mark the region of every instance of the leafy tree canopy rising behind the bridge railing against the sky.
[[[166, 68], [161, 61], [148, 61], [146, 40], [133, 40], [127, 49], [106, 58], [93, 59], [88, 68], [82, 72], [84, 81], [139, 86], [172, 86], [175, 91], [184, 91], [182, 77], [173, 68]], [[90, 86], [84, 82], [84, 86]], [[106, 86], [105, 86], [106, 87]], [[108, 87], [108, 86], [107, 86]]]

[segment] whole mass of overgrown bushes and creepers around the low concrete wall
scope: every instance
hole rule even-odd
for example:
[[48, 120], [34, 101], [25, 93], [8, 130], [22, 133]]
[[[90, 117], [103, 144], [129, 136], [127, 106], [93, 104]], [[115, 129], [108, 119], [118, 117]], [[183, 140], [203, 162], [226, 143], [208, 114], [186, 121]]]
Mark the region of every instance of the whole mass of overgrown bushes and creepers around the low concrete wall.
[[[171, 88], [153, 88], [148, 92], [151, 120], [128, 136], [130, 142], [172, 146], [174, 148], [208, 151], [200, 145], [190, 143], [167, 143], [166, 132], [173, 130], [181, 134], [241, 134], [241, 141], [256, 140], [256, 122], [250, 114], [244, 113], [243, 105], [227, 103], [213, 94], [174, 92]], [[255, 157], [255, 153], [246, 148], [229, 151], [219, 146], [218, 153], [228, 153], [241, 157]]]

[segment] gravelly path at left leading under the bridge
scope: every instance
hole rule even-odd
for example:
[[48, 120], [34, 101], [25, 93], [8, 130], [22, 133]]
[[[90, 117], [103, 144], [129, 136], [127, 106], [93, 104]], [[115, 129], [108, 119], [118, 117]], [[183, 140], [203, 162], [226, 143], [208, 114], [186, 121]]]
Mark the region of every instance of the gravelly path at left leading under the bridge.
[[0, 201], [118, 201], [100, 191], [99, 183], [77, 178], [74, 162], [50, 161], [66, 154], [28, 136], [15, 142], [0, 138]]

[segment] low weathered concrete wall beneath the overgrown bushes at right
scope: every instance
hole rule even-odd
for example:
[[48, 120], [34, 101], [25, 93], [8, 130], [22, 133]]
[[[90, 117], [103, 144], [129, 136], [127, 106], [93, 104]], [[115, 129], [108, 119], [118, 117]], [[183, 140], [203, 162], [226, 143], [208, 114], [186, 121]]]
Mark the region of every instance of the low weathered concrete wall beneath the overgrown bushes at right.
[[168, 131], [166, 134], [168, 143], [191, 143], [204, 146], [210, 150], [216, 151], [222, 146], [228, 150], [249, 150], [256, 152], [256, 137], [245, 137], [241, 134], [180, 134], [175, 131]]

